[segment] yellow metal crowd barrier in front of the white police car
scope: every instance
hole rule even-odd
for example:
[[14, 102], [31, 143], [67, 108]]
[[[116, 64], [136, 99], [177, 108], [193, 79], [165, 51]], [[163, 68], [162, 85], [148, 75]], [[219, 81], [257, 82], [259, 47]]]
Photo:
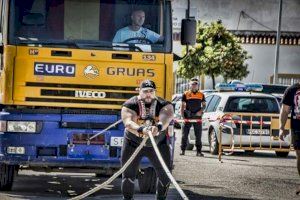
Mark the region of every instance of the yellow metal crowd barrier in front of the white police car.
[[[286, 123], [290, 133], [290, 120]], [[219, 161], [223, 150], [272, 150], [289, 152], [291, 136], [281, 141], [279, 139], [279, 115], [226, 113], [220, 119], [219, 127]]]

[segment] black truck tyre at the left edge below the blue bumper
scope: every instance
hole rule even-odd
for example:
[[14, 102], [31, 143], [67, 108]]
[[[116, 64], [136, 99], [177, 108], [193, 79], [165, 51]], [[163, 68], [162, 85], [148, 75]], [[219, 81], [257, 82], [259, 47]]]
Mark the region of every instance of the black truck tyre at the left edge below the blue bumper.
[[0, 164], [0, 191], [10, 191], [16, 171], [14, 165]]

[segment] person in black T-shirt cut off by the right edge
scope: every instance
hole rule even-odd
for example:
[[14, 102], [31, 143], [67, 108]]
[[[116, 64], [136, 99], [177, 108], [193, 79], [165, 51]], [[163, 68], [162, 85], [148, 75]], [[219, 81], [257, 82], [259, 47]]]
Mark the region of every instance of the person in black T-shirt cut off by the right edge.
[[[296, 151], [297, 169], [300, 175], [300, 82], [286, 89], [281, 103], [279, 138], [284, 141], [284, 137], [289, 134], [284, 127], [291, 113], [292, 143]], [[296, 194], [300, 194], [300, 188]]]

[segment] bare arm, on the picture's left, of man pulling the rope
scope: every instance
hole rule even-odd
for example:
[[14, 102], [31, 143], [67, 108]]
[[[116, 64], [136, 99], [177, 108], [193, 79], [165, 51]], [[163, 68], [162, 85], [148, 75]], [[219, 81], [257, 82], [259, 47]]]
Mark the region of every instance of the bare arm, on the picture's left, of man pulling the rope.
[[121, 110], [121, 117], [125, 128], [129, 132], [139, 136], [137, 130], [140, 128], [140, 126], [136, 123], [137, 113], [129, 108], [123, 107]]

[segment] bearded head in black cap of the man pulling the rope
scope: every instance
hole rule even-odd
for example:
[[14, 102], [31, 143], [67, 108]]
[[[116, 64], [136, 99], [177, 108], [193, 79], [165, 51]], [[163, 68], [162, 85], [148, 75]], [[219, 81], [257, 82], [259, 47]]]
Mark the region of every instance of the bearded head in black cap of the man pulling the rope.
[[140, 85], [140, 99], [145, 101], [145, 103], [151, 103], [153, 99], [156, 99], [155, 91], [155, 83], [151, 80], [144, 80]]

